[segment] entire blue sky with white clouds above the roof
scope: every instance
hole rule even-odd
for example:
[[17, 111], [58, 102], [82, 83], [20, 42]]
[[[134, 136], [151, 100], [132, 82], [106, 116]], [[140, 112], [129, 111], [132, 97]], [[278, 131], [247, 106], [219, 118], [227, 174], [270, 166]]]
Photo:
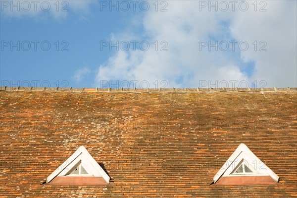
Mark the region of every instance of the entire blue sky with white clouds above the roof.
[[296, 1], [36, 2], [0, 0], [1, 86], [297, 87]]

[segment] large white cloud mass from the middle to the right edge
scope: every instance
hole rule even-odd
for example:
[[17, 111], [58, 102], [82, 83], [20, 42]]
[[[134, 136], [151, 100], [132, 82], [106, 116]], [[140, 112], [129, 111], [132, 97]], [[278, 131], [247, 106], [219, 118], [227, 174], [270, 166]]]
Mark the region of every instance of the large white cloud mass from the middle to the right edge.
[[[267, 87], [297, 86], [296, 1], [266, 1], [266, 12], [255, 12], [251, 4], [254, 1], [249, 2], [247, 11], [235, 6], [235, 11], [229, 7], [227, 12], [208, 11], [208, 7], [199, 11], [199, 1], [167, 2], [167, 12], [150, 10], [141, 18], [147, 33], [143, 39], [149, 42], [149, 50], [116, 52], [99, 66], [97, 85], [99, 80], [116, 79], [147, 80], [150, 87], [154, 87], [155, 80], [167, 80], [168, 87], [198, 87], [201, 81], [209, 80], [211, 84], [225, 80], [229, 87], [232, 80], [238, 81], [236, 86], [247, 81], [252, 87], [254, 80], [267, 81]], [[125, 35], [126, 32], [117, 33], [113, 40], [123, 40]], [[235, 39], [247, 42], [248, 50], [199, 50], [201, 41]], [[158, 47], [166, 41], [168, 51], [155, 51], [155, 41]], [[262, 46], [259, 42], [265, 41], [267, 51], [254, 51], [254, 41], [258, 48]], [[255, 63], [251, 76], [244, 71], [243, 65], [248, 62]]]

